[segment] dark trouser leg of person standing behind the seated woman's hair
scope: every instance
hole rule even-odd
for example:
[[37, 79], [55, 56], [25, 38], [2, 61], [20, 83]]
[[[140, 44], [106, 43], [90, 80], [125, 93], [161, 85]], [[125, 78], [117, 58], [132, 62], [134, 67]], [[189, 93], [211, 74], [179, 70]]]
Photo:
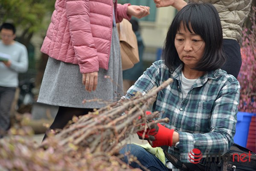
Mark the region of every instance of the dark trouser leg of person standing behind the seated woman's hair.
[[240, 45], [235, 40], [223, 39], [222, 48], [227, 61], [221, 69], [237, 78], [242, 64]]

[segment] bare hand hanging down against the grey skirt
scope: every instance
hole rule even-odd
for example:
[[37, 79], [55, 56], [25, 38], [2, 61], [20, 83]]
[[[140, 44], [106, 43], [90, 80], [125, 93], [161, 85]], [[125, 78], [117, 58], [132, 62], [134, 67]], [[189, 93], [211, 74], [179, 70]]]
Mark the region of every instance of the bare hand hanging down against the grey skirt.
[[98, 71], [82, 74], [82, 83], [85, 85], [85, 90], [95, 91], [98, 84]]

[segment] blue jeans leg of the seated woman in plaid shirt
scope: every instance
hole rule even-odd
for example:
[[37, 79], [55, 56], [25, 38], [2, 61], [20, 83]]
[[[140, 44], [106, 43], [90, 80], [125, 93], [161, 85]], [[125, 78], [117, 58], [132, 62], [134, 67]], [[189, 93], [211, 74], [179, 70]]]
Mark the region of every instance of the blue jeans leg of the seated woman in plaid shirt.
[[[138, 161], [150, 171], [169, 171], [168, 168], [163, 164], [163, 162], [161, 162], [157, 157], [155, 157], [153, 154], [149, 153], [139, 145], [128, 144], [123, 147], [119, 152], [120, 154], [125, 155], [123, 161], [126, 163], [128, 163], [129, 160], [128, 156], [125, 153], [128, 152], [129, 155], [137, 157]], [[140, 165], [138, 165], [136, 162], [131, 162], [130, 166], [133, 168], [140, 168], [143, 171], [145, 170], [140, 167]]]

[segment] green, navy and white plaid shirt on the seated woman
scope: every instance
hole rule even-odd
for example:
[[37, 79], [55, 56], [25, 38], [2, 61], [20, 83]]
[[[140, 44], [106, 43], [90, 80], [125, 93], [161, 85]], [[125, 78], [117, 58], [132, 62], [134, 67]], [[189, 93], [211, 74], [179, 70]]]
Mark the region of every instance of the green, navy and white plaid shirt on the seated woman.
[[219, 151], [224, 154], [233, 144], [236, 132], [239, 81], [221, 69], [206, 72], [183, 97], [182, 68], [183, 64], [172, 71], [162, 60], [154, 62], [123, 98], [129, 99], [136, 92], [145, 95], [172, 78], [174, 81], [157, 94], [152, 107], [152, 112], [161, 111], [158, 119], [170, 119], [169, 123], [162, 123], [166, 128], [179, 133], [179, 148], [169, 147], [168, 152], [179, 155], [181, 162], [189, 162], [188, 154], [194, 148], [204, 157]]

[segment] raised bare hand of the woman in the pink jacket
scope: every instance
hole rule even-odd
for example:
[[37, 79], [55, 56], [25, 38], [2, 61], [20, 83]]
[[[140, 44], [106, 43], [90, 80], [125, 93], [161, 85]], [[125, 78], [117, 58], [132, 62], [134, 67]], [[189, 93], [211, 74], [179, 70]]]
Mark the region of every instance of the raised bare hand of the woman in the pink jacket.
[[150, 8], [148, 6], [131, 5], [127, 8], [127, 14], [137, 18], [142, 18], [149, 14], [149, 9]]

